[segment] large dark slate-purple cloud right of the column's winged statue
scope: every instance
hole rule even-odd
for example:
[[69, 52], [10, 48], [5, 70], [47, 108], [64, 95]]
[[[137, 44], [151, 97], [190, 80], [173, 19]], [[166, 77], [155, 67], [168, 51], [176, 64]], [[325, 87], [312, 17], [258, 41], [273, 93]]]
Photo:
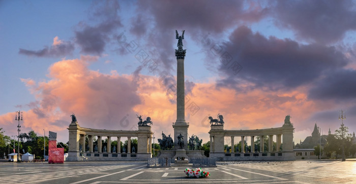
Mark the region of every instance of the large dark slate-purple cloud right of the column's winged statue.
[[[220, 70], [227, 76], [219, 81], [220, 85], [230, 87], [243, 80], [254, 87], [292, 89], [348, 63], [334, 47], [265, 38], [246, 26], [234, 30], [219, 55]], [[237, 75], [233, 69], [235, 61], [243, 67]]]

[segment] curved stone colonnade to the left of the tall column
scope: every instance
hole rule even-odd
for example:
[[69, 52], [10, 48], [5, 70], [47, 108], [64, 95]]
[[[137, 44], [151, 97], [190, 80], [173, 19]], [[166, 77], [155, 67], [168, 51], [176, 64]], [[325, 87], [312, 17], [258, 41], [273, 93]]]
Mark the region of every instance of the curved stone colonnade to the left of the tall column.
[[[152, 157], [151, 140], [153, 132], [151, 126], [138, 126], [136, 131], [127, 130], [99, 130], [80, 127], [72, 122], [68, 128], [69, 148], [66, 161], [146, 161]], [[88, 146], [85, 143], [88, 136]], [[97, 137], [97, 150], [94, 148], [94, 137]], [[111, 151], [111, 138], [117, 138], [117, 151]], [[122, 152], [121, 138], [130, 140], [137, 137], [137, 150], [132, 152], [131, 141], [128, 141], [127, 150]], [[102, 140], [107, 138], [107, 145]], [[106, 151], [102, 149], [106, 146]], [[88, 148], [88, 149], [87, 149]]]

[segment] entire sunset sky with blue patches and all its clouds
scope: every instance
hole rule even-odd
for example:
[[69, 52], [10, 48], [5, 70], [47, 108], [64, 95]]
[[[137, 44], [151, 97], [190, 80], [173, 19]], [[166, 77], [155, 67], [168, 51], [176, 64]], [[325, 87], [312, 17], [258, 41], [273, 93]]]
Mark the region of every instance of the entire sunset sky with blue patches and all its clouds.
[[[0, 1], [0, 127], [137, 130], [176, 120], [175, 30], [185, 57], [188, 134], [281, 127], [294, 141], [356, 131], [355, 1]], [[225, 142], [226, 143], [226, 142]]]

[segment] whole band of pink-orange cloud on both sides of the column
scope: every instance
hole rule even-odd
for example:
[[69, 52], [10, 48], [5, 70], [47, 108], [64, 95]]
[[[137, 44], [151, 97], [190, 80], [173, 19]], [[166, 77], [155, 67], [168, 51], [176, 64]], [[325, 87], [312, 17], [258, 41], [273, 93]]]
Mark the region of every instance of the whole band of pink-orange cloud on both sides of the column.
[[[34, 130], [42, 135], [43, 129], [50, 130], [58, 133], [58, 140], [67, 142], [72, 113], [81, 127], [107, 130], [137, 130], [137, 114], [152, 118], [156, 138], [162, 131], [173, 136], [176, 105], [170, 99], [175, 98], [174, 92], [167, 91], [158, 76], [121, 75], [117, 71], [102, 74], [88, 69], [95, 60], [97, 57], [91, 56], [64, 59], [50, 66], [49, 80], [21, 79], [37, 100], [28, 104], [31, 109], [23, 113], [21, 132]], [[218, 113], [223, 114], [227, 130], [281, 127], [285, 115], [290, 114], [296, 130], [294, 140], [303, 140], [305, 131], [314, 124], [309, 118], [331, 105], [311, 101], [306, 93], [306, 87], [290, 91], [255, 88], [236, 93], [234, 89], [216, 88], [213, 82], [195, 83], [186, 100], [188, 133], [209, 141], [207, 117], [216, 118]], [[192, 103], [198, 111], [190, 110]], [[0, 125], [9, 134], [17, 133], [13, 116], [0, 115]]]

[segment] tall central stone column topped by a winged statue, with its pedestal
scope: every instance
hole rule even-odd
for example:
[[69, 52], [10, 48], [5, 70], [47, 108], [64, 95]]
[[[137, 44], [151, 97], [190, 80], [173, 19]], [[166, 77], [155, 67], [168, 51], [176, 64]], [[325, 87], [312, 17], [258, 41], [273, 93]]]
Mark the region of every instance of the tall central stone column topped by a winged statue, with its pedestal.
[[186, 55], [186, 50], [183, 49], [183, 39], [184, 39], [184, 30], [182, 36], [178, 35], [178, 32], [175, 30], [176, 39], [178, 39], [177, 47], [175, 49], [175, 56], [177, 59], [177, 119], [173, 125], [174, 129], [174, 149], [178, 149], [180, 146], [178, 145], [178, 136], [180, 134], [183, 135], [184, 139], [184, 149], [188, 150], [188, 127], [185, 120], [185, 88], [184, 88], [184, 57]]

